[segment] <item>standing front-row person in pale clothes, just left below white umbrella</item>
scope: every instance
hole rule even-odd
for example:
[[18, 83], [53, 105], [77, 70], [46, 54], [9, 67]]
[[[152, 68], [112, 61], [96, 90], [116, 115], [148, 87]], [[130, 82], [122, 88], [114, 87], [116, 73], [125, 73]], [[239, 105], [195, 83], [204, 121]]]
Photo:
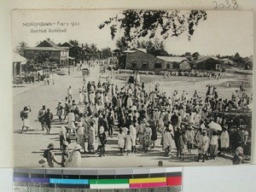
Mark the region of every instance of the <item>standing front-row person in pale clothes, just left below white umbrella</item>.
[[207, 131], [203, 130], [201, 140], [198, 143], [198, 161], [200, 161], [202, 157], [202, 162], [205, 162], [209, 144], [210, 138], [207, 137]]

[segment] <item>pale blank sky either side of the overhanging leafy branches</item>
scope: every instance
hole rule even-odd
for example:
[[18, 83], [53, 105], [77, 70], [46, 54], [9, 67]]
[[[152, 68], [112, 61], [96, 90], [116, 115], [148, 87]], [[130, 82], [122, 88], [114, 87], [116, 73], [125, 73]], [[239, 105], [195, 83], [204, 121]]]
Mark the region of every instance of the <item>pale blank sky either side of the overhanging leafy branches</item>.
[[[115, 49], [120, 34], [112, 40], [109, 27], [100, 30], [98, 26], [119, 12], [114, 9], [15, 10], [12, 13], [13, 48], [20, 42], [34, 47], [45, 38], [50, 38], [55, 44], [76, 39], [81, 44], [96, 44], [98, 49]], [[55, 26], [24, 26], [30, 22], [52, 22]], [[79, 23], [79, 26], [71, 26], [71, 22]], [[67, 32], [48, 32], [49, 28], [67, 28]], [[32, 30], [47, 32], [34, 33]], [[253, 12], [207, 11], [207, 20], [199, 23], [190, 41], [186, 35], [181, 35], [165, 39], [164, 44], [167, 52], [174, 55], [185, 52], [199, 52], [200, 55], [235, 55], [236, 52], [241, 56], [253, 55]]]

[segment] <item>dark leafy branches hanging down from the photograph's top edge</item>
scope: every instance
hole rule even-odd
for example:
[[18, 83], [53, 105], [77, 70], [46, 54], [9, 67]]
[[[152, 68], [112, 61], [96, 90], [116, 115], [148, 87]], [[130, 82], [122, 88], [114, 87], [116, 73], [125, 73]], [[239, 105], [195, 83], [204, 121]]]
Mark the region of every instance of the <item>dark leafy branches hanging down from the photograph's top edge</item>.
[[190, 39], [195, 32], [195, 26], [200, 20], [207, 20], [204, 10], [182, 12], [178, 10], [131, 10], [122, 11], [119, 15], [105, 20], [99, 28], [109, 26], [111, 37], [114, 38], [118, 27], [124, 31], [125, 42], [132, 42], [137, 38], [154, 38], [160, 35], [166, 39], [169, 36], [178, 37], [187, 32]]

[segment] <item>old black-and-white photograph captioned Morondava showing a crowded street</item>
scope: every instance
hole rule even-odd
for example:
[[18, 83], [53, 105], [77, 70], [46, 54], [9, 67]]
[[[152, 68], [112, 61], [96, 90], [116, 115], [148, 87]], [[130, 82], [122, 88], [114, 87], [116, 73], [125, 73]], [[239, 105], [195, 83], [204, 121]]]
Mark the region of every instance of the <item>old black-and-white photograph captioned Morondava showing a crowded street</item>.
[[12, 12], [15, 167], [251, 163], [253, 11]]

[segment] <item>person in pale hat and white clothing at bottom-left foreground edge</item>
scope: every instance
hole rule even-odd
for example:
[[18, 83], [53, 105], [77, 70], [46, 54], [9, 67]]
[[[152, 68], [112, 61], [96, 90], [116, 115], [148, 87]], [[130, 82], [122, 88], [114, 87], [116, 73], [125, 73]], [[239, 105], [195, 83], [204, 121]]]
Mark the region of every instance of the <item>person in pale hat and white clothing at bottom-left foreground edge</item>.
[[64, 163], [65, 167], [79, 167], [81, 166], [82, 157], [80, 154], [80, 149], [82, 147], [79, 144], [76, 144], [73, 148], [73, 151], [69, 155], [68, 160]]

